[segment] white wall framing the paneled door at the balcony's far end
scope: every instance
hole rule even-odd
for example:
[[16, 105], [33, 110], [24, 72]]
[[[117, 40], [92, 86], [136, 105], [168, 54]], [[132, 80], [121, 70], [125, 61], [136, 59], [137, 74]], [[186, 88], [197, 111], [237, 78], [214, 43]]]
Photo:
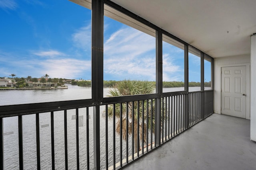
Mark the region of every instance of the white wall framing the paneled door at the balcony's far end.
[[227, 66], [246, 66], [246, 119], [250, 119], [250, 54], [214, 59], [214, 113], [221, 113], [221, 67]]

